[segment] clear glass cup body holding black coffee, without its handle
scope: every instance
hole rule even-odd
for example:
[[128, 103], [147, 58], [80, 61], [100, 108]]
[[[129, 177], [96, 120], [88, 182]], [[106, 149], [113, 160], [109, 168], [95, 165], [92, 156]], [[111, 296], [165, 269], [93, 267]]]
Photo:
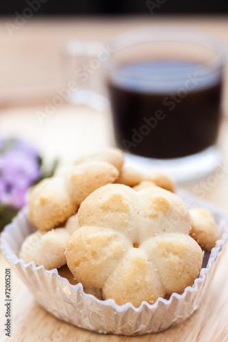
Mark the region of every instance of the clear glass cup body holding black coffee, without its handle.
[[117, 36], [109, 48], [106, 83], [127, 162], [179, 183], [212, 172], [220, 161], [223, 44], [192, 29], [150, 27]]

